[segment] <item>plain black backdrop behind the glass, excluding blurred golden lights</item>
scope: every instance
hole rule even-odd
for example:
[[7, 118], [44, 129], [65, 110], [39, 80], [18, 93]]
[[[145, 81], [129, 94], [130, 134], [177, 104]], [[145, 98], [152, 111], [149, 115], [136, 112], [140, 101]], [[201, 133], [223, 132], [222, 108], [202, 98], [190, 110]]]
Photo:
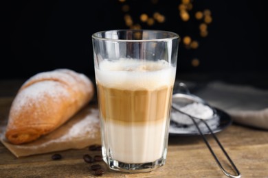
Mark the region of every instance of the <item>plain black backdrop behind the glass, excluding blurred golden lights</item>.
[[[199, 41], [198, 49], [180, 43], [178, 77], [225, 77], [241, 80], [268, 79], [267, 12], [265, 1], [192, 1], [192, 18], [179, 18], [181, 1], [128, 1], [129, 14], [157, 11], [164, 23], [144, 29], [164, 29]], [[93, 77], [91, 35], [107, 29], [128, 29], [120, 1], [9, 1], [2, 4], [3, 48], [0, 79], [27, 79], [55, 68], [70, 68]], [[199, 36], [194, 12], [209, 9], [213, 21], [208, 36]], [[199, 66], [191, 64], [198, 58]], [[250, 77], [252, 76], [252, 79]], [[187, 78], [187, 77], [186, 77]]]

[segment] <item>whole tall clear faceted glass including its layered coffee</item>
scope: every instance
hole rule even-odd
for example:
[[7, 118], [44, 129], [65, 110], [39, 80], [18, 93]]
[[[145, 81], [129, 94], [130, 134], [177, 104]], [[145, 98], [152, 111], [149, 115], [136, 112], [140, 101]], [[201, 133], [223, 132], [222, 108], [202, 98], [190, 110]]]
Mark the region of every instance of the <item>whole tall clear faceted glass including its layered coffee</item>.
[[179, 36], [126, 29], [92, 40], [104, 162], [129, 173], [163, 166]]

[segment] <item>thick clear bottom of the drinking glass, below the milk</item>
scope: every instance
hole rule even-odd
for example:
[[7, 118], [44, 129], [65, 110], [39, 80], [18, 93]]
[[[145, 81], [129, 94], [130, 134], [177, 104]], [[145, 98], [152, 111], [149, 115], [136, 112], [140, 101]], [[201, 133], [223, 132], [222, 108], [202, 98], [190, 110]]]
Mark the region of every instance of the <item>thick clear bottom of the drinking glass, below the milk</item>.
[[146, 162], [141, 164], [129, 164], [112, 160], [111, 158], [104, 159], [104, 162], [107, 163], [111, 170], [117, 170], [125, 173], [146, 173], [163, 166], [166, 162], [166, 159], [160, 158], [155, 162]]

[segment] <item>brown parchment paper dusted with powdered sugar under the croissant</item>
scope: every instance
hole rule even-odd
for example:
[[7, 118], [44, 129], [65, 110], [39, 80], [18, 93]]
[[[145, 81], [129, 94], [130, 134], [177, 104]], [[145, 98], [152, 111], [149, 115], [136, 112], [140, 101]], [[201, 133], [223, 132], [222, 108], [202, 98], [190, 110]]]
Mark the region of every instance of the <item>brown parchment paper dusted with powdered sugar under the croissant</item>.
[[5, 126], [1, 127], [1, 142], [16, 157], [63, 151], [67, 149], [83, 149], [91, 144], [100, 144], [100, 120], [98, 109], [87, 106], [73, 118], [34, 142], [15, 145], [4, 136]]

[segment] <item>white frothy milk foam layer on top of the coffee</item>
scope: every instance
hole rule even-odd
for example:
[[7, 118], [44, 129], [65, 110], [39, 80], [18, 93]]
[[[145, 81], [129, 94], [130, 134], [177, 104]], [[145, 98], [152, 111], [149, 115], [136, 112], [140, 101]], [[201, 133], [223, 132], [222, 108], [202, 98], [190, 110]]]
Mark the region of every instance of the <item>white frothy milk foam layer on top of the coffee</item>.
[[103, 86], [125, 90], [155, 90], [161, 86], [171, 86], [176, 74], [176, 68], [165, 60], [103, 60], [95, 71], [97, 81]]

